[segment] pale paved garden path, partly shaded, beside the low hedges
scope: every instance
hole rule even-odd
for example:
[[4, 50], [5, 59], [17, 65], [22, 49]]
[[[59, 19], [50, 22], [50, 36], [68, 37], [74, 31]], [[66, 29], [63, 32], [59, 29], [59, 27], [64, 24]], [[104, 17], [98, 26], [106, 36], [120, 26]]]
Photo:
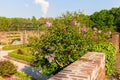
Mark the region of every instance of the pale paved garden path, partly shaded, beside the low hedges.
[[[6, 59], [3, 56], [8, 55], [8, 53], [11, 51], [13, 51], [13, 50], [9, 50], [9, 51], [0, 50], [0, 60]], [[33, 70], [32, 66], [26, 65], [26, 64], [23, 64], [20, 62], [16, 62], [14, 60], [10, 60], [10, 61], [13, 62], [18, 67], [18, 71], [24, 72], [24, 73], [34, 77], [36, 80], [47, 80], [46, 76], [40, 76], [39, 71]]]

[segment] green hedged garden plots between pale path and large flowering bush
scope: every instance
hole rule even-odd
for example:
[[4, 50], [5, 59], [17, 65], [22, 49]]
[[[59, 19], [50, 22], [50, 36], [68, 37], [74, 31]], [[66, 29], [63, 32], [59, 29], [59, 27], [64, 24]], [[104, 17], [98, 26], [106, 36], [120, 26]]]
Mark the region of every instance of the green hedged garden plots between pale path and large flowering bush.
[[16, 58], [18, 60], [23, 60], [28, 63], [32, 61], [34, 58], [30, 47], [27, 45], [9, 45], [9, 46], [4, 46], [3, 50], [14, 50], [8, 54], [9, 57]]

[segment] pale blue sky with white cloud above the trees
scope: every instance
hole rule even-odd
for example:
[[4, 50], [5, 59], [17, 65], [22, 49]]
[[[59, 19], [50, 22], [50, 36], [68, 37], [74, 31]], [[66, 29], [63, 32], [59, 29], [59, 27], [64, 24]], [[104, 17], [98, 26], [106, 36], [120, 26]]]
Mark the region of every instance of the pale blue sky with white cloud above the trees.
[[57, 17], [66, 11], [91, 15], [113, 7], [120, 7], [120, 0], [0, 0], [0, 16]]

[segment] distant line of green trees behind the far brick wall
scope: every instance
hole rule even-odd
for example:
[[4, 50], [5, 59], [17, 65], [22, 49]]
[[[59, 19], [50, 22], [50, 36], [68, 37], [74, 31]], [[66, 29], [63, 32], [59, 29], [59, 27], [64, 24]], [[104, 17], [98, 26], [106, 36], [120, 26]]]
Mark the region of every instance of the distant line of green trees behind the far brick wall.
[[47, 20], [53, 21], [53, 18], [36, 19], [35, 16], [30, 18], [7, 18], [0, 17], [0, 31], [20, 31], [20, 30], [37, 30]]

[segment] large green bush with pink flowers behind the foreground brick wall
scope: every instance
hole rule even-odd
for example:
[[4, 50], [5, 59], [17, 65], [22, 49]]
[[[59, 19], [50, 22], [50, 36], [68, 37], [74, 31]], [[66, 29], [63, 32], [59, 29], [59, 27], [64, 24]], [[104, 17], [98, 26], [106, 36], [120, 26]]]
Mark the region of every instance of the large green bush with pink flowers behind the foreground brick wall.
[[71, 20], [71, 24], [66, 26], [61, 23], [61, 26], [56, 26], [56, 23], [53, 23], [53, 26], [47, 28], [45, 35], [30, 39], [35, 53], [33, 64], [42, 70], [43, 74], [55, 74], [87, 51], [96, 51], [94, 45], [107, 42], [109, 36], [102, 30], [78, 27], [76, 22]]

